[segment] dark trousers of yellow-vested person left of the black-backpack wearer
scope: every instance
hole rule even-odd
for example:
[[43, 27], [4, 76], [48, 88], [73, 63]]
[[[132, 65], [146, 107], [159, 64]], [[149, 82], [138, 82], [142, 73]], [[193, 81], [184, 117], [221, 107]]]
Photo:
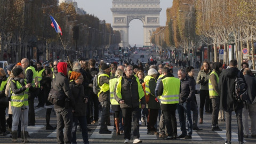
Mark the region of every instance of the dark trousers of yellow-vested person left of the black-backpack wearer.
[[220, 97], [212, 99], [212, 127], [218, 126], [218, 116], [220, 111]]

